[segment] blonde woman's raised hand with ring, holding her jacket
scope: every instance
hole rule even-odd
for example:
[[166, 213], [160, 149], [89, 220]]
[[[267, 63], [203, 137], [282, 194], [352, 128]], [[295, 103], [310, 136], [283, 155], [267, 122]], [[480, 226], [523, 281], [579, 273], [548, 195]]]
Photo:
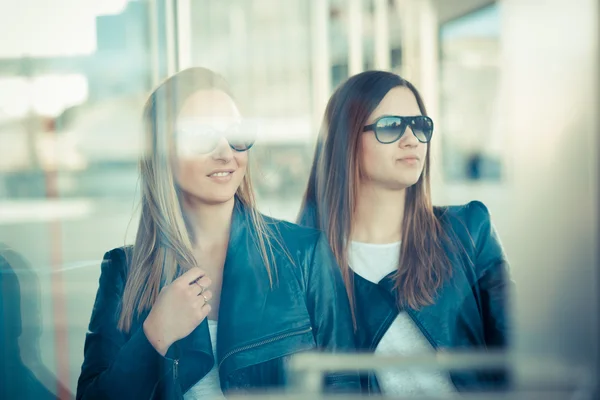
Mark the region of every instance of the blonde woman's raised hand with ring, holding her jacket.
[[160, 291], [143, 329], [162, 356], [173, 343], [192, 333], [210, 312], [210, 284], [204, 271], [195, 267]]

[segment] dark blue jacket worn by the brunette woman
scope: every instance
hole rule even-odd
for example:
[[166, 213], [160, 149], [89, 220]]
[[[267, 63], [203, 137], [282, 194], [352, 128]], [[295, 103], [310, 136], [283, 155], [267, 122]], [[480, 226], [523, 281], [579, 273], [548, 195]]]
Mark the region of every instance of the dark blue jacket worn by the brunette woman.
[[[310, 210], [310, 209], [309, 209]], [[448, 251], [452, 276], [435, 303], [419, 310], [406, 308], [434, 349], [501, 350], [509, 334], [508, 298], [512, 282], [500, 240], [481, 202], [436, 207], [435, 214], [457, 246]], [[315, 226], [314, 211], [301, 224]], [[378, 284], [354, 274], [357, 346], [374, 351], [398, 313], [392, 273]], [[509, 384], [506, 371], [450, 373], [459, 391], [500, 390]], [[374, 374], [363, 377], [363, 389], [379, 392]]]

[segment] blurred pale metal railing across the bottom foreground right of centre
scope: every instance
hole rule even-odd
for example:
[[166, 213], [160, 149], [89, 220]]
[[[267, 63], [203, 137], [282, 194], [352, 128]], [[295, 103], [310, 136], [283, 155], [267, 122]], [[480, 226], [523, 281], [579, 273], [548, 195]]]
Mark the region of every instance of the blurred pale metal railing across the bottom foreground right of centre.
[[[553, 359], [534, 359], [500, 352], [450, 352], [414, 356], [376, 354], [302, 353], [290, 360], [289, 388], [277, 392], [240, 394], [232, 399], [365, 399], [360, 394], [325, 394], [324, 375], [331, 372], [384, 371], [394, 369], [434, 369], [444, 371], [510, 371], [514, 378], [510, 389], [498, 392], [469, 392], [444, 396], [467, 400], [592, 400], [596, 377], [586, 368], [564, 365]], [[377, 396], [378, 399], [437, 399], [441, 396]]]

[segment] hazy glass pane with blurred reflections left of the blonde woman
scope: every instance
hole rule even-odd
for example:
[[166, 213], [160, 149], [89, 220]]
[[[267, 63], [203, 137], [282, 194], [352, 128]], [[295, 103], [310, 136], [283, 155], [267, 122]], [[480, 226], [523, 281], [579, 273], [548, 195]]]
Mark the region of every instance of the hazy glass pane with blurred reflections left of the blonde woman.
[[72, 396], [98, 257], [131, 219], [153, 68], [148, 2], [57, 0], [43, 24], [38, 2], [0, 6], [3, 399]]

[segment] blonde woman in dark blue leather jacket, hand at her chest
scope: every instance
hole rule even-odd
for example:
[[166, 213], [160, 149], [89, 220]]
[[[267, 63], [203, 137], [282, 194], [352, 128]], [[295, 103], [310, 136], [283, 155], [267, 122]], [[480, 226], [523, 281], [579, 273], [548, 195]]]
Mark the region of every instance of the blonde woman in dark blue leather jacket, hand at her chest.
[[[287, 357], [354, 347], [327, 239], [256, 211], [252, 130], [203, 68], [162, 83], [144, 110], [135, 245], [106, 253], [78, 399], [205, 399], [285, 385]], [[358, 388], [355, 375], [329, 387]]]

